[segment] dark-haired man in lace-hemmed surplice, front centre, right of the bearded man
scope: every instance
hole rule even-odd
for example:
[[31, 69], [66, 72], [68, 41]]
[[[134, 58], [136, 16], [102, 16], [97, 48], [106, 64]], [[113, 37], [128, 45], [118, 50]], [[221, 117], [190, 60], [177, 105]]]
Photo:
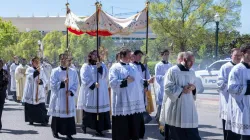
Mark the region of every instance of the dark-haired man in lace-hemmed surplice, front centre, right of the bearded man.
[[120, 51], [120, 63], [112, 65], [109, 72], [112, 103], [112, 139], [129, 140], [144, 137], [145, 111], [144, 88], [153, 82], [153, 78], [142, 78], [138, 68], [129, 64], [129, 49]]

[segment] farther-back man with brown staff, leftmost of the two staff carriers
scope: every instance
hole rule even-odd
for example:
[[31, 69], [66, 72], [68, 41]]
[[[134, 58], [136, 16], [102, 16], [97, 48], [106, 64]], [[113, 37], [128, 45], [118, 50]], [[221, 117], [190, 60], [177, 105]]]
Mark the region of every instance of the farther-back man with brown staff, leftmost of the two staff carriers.
[[26, 69], [26, 82], [22, 102], [24, 103], [25, 122], [48, 124], [45, 106], [45, 87], [48, 80], [39, 65], [39, 58], [32, 58], [32, 67]]

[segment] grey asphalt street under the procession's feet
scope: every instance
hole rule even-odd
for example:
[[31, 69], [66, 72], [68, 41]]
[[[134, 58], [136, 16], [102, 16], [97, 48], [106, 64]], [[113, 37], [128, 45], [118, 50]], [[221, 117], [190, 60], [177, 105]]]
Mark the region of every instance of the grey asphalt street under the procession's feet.
[[[199, 115], [199, 133], [204, 140], [222, 139], [221, 120], [218, 115], [218, 94], [199, 94], [197, 96], [197, 110]], [[24, 107], [20, 103], [7, 101], [4, 106], [0, 133], [0, 140], [54, 140], [50, 125], [28, 125], [24, 122]], [[155, 115], [155, 112], [152, 116]], [[95, 131], [87, 129], [88, 134], [83, 134], [80, 124], [77, 125], [75, 140], [110, 140], [111, 130], [105, 132], [105, 137], [96, 137]], [[61, 136], [61, 138], [64, 138]], [[145, 139], [163, 140], [159, 134], [155, 120], [146, 125]]]

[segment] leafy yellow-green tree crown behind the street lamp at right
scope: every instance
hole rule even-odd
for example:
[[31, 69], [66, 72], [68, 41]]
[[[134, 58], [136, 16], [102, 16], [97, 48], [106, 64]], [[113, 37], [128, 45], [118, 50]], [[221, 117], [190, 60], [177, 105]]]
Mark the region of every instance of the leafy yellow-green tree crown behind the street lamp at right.
[[[199, 50], [214, 29], [214, 15], [221, 17], [220, 31], [240, 25], [240, 0], [152, 0], [150, 13], [153, 31], [160, 42], [168, 38], [173, 51]], [[213, 37], [214, 39], [214, 37]]]

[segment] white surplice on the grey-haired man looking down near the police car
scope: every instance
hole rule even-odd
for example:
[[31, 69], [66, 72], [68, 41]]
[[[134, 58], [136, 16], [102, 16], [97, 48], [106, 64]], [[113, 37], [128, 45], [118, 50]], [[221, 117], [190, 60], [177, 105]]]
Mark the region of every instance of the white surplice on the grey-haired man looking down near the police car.
[[[190, 84], [196, 86], [196, 94], [203, 92], [203, 86], [195, 76], [194, 71], [181, 71], [176, 65], [171, 67], [164, 82], [166, 100], [163, 109], [164, 122], [180, 128], [197, 128], [198, 114], [195, 106], [196, 94], [181, 94], [183, 87]], [[162, 118], [161, 118], [162, 119]], [[162, 122], [162, 121], [161, 121]]]

